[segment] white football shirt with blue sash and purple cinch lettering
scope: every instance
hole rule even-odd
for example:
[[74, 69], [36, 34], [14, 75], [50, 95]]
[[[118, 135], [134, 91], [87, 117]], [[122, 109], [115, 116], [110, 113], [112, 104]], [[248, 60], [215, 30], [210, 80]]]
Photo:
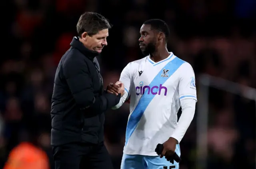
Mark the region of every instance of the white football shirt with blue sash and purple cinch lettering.
[[[120, 81], [125, 94], [112, 108], [119, 108], [130, 97], [124, 153], [155, 156], [156, 145], [174, 134], [180, 101], [197, 101], [192, 66], [172, 52], [157, 63], [147, 56], [130, 62]], [[176, 139], [180, 142], [182, 138]]]

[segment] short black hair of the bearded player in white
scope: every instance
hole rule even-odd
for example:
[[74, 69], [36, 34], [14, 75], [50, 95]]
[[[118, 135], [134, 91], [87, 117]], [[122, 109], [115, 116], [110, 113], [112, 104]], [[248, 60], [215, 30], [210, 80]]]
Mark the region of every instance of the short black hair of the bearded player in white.
[[160, 19], [150, 19], [150, 20], [146, 20], [143, 24], [150, 25], [151, 29], [164, 33], [165, 41], [166, 43], [168, 42], [168, 39], [170, 36], [170, 29], [166, 24], [166, 22]]

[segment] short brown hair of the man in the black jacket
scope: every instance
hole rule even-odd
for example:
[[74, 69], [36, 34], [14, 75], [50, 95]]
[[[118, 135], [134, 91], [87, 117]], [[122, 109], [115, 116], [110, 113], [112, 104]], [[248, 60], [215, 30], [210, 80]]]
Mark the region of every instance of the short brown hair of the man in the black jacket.
[[102, 15], [96, 12], [84, 12], [76, 24], [76, 31], [81, 38], [84, 32], [89, 36], [97, 34], [104, 29], [110, 29], [112, 26], [109, 21]]

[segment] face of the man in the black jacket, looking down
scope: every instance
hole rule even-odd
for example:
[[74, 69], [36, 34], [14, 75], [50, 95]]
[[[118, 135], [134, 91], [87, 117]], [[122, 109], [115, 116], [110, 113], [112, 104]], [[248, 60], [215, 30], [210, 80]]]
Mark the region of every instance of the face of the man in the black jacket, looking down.
[[101, 53], [104, 46], [107, 46], [108, 29], [99, 31], [93, 36], [86, 36], [86, 47], [89, 50]]

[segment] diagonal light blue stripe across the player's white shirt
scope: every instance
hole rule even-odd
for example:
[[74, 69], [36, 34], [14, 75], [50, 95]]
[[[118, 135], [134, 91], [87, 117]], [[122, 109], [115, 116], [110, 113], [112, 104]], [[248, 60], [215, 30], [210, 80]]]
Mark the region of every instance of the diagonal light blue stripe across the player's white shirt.
[[[185, 61], [181, 60], [180, 58], [174, 58], [168, 64], [166, 64], [160, 72], [156, 75], [156, 77], [152, 80], [152, 82], [149, 84], [150, 88], [153, 86], [159, 86], [160, 84], [164, 84], [174, 72], [184, 63]], [[163, 69], [168, 69], [168, 77], [164, 78], [161, 77], [161, 74], [163, 73]], [[159, 89], [159, 88], [158, 88]], [[144, 94], [141, 96], [140, 101], [138, 102], [138, 105], [135, 107], [134, 111], [130, 115], [130, 118], [128, 119], [127, 127], [126, 127], [126, 138], [125, 138], [125, 145], [128, 143], [128, 140], [130, 139], [132, 133], [134, 132], [135, 128], [138, 125], [138, 122], [140, 121], [144, 111], [148, 107], [149, 103], [152, 101], [152, 99], [155, 97], [152, 93], [150, 94]]]

